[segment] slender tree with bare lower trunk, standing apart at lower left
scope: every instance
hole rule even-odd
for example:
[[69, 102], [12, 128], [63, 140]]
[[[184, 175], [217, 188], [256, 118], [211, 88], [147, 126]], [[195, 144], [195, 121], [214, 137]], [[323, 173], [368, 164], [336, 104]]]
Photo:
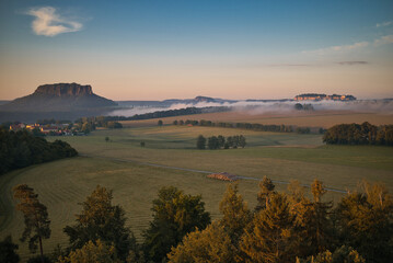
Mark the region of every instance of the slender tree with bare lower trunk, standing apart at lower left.
[[[28, 249], [35, 253], [39, 245], [39, 254], [44, 262], [43, 239], [50, 237], [50, 220], [45, 205], [38, 201], [38, 195], [34, 193], [27, 184], [20, 184], [13, 188], [14, 198], [20, 201], [16, 209], [23, 213], [25, 228], [21, 241], [28, 239]], [[37, 244], [38, 243], [38, 244]]]

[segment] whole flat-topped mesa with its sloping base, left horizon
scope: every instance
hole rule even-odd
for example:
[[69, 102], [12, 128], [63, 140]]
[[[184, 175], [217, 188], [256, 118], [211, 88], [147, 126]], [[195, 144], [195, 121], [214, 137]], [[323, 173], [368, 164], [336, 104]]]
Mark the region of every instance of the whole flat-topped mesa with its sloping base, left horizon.
[[74, 112], [108, 108], [117, 103], [93, 93], [91, 85], [57, 83], [39, 85], [33, 94], [1, 105], [7, 112]]

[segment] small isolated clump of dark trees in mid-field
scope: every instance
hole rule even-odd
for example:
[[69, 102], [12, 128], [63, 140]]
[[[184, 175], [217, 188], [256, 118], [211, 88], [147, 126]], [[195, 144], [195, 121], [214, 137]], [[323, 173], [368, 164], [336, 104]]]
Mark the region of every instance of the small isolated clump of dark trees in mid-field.
[[216, 150], [221, 148], [223, 149], [230, 149], [230, 148], [235, 149], [238, 147], [244, 148], [245, 145], [246, 145], [245, 137], [243, 135], [229, 136], [227, 138], [223, 137], [222, 135], [219, 135], [219, 136], [208, 137], [207, 139], [203, 135], [199, 135], [196, 142], [196, 147], [199, 150], [206, 149], [206, 146], [210, 150]]

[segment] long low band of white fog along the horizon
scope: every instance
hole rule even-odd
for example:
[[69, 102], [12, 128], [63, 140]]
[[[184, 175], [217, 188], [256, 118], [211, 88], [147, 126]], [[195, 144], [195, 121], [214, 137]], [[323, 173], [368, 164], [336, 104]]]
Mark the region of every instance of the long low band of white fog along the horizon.
[[264, 113], [291, 113], [294, 112], [294, 104], [300, 103], [311, 104], [314, 111], [350, 111], [350, 112], [362, 112], [362, 113], [382, 113], [393, 114], [393, 100], [361, 100], [361, 101], [271, 101], [271, 102], [247, 102], [239, 101], [235, 103], [216, 103], [216, 102], [199, 102], [199, 103], [174, 103], [167, 107], [157, 106], [135, 106], [129, 108], [116, 110], [107, 115], [109, 116], [134, 116], [136, 114], [152, 113], [158, 111], [180, 110], [186, 107], [216, 107], [216, 106], [228, 106], [232, 111], [243, 112], [248, 114], [264, 114]]

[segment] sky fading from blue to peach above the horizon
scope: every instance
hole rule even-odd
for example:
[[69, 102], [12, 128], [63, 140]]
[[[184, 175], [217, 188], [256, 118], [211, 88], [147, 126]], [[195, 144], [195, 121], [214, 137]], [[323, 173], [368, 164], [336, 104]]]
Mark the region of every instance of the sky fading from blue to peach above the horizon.
[[0, 0], [0, 100], [393, 98], [393, 1]]

